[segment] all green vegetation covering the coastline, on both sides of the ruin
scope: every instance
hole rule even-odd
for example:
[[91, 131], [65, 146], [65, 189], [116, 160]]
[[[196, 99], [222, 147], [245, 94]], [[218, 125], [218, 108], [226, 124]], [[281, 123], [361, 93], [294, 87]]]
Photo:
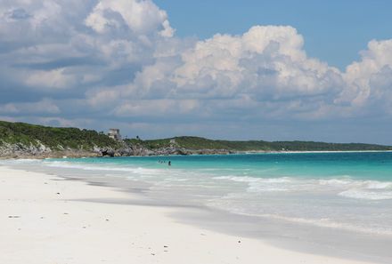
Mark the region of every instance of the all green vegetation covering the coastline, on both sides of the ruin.
[[63, 148], [92, 150], [100, 148], [120, 149], [126, 146], [139, 146], [156, 150], [158, 148], [185, 148], [191, 150], [216, 149], [228, 151], [326, 151], [326, 150], [392, 150], [390, 146], [372, 144], [339, 144], [313, 141], [274, 141], [263, 140], [229, 141], [208, 140], [199, 137], [176, 137], [162, 140], [129, 139], [122, 142], [111, 140], [102, 132], [80, 130], [78, 128], [48, 127], [35, 124], [10, 123], [0, 121], [0, 146], [4, 143], [24, 146], [38, 146], [40, 143], [53, 150]]

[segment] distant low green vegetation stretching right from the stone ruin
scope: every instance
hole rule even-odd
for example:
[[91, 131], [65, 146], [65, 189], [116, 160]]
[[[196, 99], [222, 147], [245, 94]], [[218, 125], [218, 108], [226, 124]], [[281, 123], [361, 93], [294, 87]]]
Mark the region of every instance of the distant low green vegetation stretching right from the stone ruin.
[[[170, 143], [175, 140], [175, 143]], [[167, 148], [171, 145], [186, 149], [226, 149], [230, 151], [333, 151], [333, 150], [392, 150], [389, 146], [373, 144], [339, 144], [313, 141], [274, 141], [263, 140], [229, 141], [208, 140], [199, 137], [176, 137], [163, 140], [126, 140], [129, 144], [138, 144], [144, 148]]]

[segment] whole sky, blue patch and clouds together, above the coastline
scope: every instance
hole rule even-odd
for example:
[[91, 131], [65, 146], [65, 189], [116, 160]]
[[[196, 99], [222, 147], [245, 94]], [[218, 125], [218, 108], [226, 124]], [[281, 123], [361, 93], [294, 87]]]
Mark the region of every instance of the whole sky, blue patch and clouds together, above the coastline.
[[0, 120], [392, 145], [390, 1], [2, 0]]

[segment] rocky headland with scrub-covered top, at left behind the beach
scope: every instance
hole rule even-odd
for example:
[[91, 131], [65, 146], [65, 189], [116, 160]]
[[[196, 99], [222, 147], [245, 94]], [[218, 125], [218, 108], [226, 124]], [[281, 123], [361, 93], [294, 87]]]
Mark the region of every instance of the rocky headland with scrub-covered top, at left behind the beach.
[[[164, 143], [167, 141], [167, 144]], [[160, 142], [160, 141], [159, 141]], [[226, 154], [226, 149], [187, 149], [173, 140], [151, 144], [114, 140], [103, 132], [0, 121], [1, 158]]]

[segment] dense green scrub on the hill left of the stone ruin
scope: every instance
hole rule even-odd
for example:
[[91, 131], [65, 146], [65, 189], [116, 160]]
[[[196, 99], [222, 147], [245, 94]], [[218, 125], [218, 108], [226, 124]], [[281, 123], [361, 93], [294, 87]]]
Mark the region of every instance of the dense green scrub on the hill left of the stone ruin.
[[0, 145], [4, 143], [25, 146], [37, 146], [42, 143], [53, 150], [61, 150], [61, 148], [91, 150], [94, 146], [118, 147], [117, 141], [93, 130], [0, 121]]

